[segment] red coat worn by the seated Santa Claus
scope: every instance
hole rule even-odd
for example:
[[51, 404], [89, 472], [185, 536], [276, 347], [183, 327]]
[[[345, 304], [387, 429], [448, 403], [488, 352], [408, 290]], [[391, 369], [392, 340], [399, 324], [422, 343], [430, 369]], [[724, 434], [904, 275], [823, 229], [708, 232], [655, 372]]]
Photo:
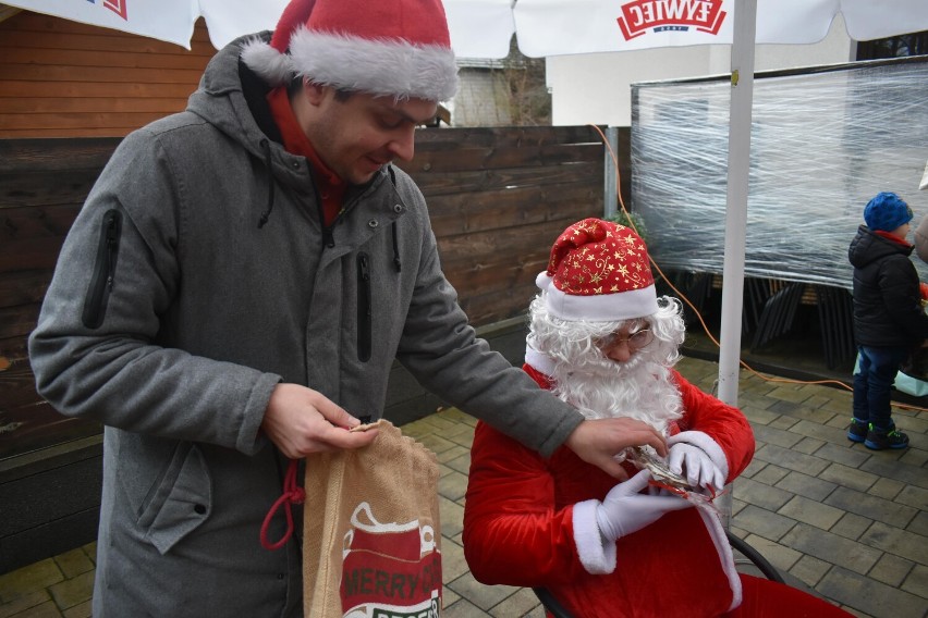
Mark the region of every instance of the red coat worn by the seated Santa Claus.
[[[542, 374], [526, 371], [549, 387]], [[734, 479], [754, 454], [750, 425], [736, 408], [672, 375], [684, 415], [671, 434], [710, 437], [720, 449], [710, 456], [723, 457], [720, 468]], [[637, 471], [626, 467], [630, 475]], [[615, 482], [566, 447], [545, 459], [478, 423], [464, 510], [471, 572], [484, 583], [547, 588], [575, 616], [728, 611], [737, 593], [696, 508], [669, 512], [603, 547], [595, 509]]]

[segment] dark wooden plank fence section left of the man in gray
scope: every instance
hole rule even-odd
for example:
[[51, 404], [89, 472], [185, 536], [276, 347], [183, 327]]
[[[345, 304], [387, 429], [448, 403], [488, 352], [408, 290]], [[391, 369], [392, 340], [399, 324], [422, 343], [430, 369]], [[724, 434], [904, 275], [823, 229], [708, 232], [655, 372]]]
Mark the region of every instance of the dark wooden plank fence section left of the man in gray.
[[26, 338], [64, 235], [118, 143], [0, 139], [0, 459], [99, 433], [38, 397]]

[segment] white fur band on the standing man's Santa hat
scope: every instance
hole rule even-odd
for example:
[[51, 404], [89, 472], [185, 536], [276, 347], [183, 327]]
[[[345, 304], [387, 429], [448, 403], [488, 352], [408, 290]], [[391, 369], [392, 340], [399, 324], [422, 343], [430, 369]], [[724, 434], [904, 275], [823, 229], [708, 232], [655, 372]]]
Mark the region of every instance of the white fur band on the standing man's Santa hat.
[[447, 101], [457, 91], [450, 48], [403, 39], [366, 39], [297, 28], [290, 38], [291, 67], [317, 84], [371, 95]]

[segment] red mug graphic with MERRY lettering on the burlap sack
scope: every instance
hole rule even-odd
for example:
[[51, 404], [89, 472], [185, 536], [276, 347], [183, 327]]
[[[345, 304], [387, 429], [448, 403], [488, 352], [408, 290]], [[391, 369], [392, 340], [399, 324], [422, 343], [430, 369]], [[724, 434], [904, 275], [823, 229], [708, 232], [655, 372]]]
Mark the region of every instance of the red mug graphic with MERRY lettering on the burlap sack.
[[344, 618], [438, 618], [441, 554], [432, 527], [380, 523], [366, 502], [351, 522], [339, 586]]

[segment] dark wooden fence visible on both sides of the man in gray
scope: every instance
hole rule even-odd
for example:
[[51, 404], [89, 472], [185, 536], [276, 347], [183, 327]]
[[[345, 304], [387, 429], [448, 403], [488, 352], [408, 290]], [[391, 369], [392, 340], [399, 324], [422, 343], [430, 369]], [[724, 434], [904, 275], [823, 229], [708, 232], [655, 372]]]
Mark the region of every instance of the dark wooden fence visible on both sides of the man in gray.
[[[0, 573], [96, 534], [100, 427], [61, 417], [36, 394], [26, 338], [64, 235], [118, 143], [0, 139]], [[603, 211], [595, 127], [420, 129], [415, 159], [401, 166], [425, 194], [444, 271], [484, 332], [525, 312], [557, 235]], [[512, 345], [511, 330], [501, 336]], [[438, 404], [394, 369], [389, 418], [402, 423]]]

